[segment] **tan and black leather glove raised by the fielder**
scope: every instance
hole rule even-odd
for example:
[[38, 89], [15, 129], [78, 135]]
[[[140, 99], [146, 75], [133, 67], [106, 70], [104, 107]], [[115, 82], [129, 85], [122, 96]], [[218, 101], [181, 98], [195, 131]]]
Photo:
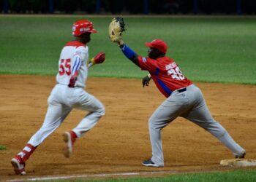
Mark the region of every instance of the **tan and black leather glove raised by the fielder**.
[[123, 40], [121, 39], [121, 33], [125, 31], [124, 25], [123, 17], [114, 17], [108, 28], [110, 40], [116, 42], [118, 45], [124, 44]]

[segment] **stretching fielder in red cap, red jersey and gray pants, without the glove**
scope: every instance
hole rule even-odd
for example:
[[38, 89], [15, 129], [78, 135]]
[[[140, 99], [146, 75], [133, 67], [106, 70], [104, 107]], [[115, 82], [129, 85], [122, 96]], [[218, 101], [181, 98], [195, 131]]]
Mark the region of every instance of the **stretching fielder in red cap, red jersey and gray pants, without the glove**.
[[153, 79], [159, 91], [167, 98], [148, 120], [152, 157], [143, 161], [142, 165], [164, 166], [161, 130], [178, 116], [189, 119], [210, 132], [227, 146], [236, 158], [244, 158], [246, 151], [213, 119], [200, 89], [181, 73], [174, 60], [165, 56], [165, 41], [155, 39], [147, 42], [148, 58], [137, 55], [122, 39], [116, 39], [114, 42], [118, 43], [124, 55], [136, 66], [149, 72], [143, 78], [143, 87], [148, 86], [149, 81]]

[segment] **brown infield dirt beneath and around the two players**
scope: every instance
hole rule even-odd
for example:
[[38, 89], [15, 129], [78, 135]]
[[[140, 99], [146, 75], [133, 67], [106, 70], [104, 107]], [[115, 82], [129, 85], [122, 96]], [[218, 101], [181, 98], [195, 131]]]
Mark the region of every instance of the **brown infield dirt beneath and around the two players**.
[[[165, 98], [152, 82], [143, 88], [138, 79], [89, 78], [87, 92], [105, 104], [106, 115], [75, 143], [72, 157], [62, 154], [62, 134], [86, 115], [74, 110], [26, 163], [26, 177], [15, 175], [10, 159], [42, 125], [54, 76], [0, 75], [0, 179], [56, 175], [86, 175], [167, 171], [228, 170], [219, 161], [233, 154], [205, 130], [178, 118], [162, 131], [165, 167], [143, 167], [151, 157], [148, 118]], [[195, 83], [203, 91], [211, 114], [256, 159], [256, 86]]]

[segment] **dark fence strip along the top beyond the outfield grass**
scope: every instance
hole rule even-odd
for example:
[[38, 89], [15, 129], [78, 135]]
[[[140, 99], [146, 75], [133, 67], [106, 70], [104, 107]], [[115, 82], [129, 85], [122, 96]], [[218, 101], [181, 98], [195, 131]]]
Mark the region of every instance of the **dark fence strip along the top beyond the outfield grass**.
[[255, 15], [256, 0], [0, 0], [1, 13]]

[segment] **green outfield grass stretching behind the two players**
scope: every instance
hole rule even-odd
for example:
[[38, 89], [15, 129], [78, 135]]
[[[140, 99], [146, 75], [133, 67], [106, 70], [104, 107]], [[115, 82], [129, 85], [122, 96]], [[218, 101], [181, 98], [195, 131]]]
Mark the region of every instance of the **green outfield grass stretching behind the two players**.
[[[0, 16], [0, 74], [55, 75], [61, 48], [72, 40], [71, 25], [84, 17]], [[99, 33], [91, 36], [91, 57], [106, 52], [106, 63], [90, 76], [141, 78], [108, 39], [111, 17], [89, 17]], [[144, 42], [163, 39], [167, 55], [193, 81], [256, 84], [256, 18], [253, 17], [124, 17], [124, 41], [139, 55]]]

